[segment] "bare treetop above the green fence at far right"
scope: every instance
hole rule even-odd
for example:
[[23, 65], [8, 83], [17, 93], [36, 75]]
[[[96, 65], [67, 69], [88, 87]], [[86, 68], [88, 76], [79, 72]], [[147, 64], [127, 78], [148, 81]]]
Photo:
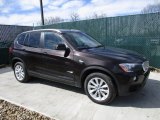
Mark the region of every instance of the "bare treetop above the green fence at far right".
[[148, 5], [141, 11], [142, 14], [156, 13], [156, 12], [160, 12], [160, 3], [154, 5]]

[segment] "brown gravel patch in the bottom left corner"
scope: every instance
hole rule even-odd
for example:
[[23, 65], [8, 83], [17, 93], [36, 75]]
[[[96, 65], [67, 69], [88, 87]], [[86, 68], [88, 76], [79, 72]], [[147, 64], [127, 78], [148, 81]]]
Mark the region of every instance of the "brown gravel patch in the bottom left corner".
[[53, 120], [40, 113], [0, 99], [0, 120]]

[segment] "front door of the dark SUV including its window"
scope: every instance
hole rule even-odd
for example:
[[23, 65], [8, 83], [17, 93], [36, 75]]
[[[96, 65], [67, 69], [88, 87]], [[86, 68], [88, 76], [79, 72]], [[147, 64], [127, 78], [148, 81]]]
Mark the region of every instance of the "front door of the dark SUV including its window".
[[53, 80], [73, 82], [73, 53], [64, 57], [65, 50], [56, 50], [60, 43], [64, 43], [60, 35], [54, 32], [43, 32], [42, 64], [43, 74]]

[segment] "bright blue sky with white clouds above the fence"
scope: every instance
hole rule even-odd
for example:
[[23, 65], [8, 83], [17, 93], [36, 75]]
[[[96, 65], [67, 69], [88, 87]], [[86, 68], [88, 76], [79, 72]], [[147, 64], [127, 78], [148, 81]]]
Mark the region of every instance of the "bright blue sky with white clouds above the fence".
[[[94, 13], [107, 17], [138, 14], [147, 5], [160, 0], [43, 0], [44, 17], [70, 19], [78, 13], [81, 19]], [[0, 0], [0, 24], [36, 25], [41, 20], [39, 0]]]

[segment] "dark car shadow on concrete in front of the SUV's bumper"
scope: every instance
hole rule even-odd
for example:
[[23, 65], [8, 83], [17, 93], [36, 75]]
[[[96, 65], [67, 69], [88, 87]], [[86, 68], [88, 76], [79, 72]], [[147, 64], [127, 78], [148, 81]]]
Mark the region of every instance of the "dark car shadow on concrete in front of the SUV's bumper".
[[110, 106], [160, 108], [160, 81], [149, 79], [145, 87], [129, 96], [117, 97]]

